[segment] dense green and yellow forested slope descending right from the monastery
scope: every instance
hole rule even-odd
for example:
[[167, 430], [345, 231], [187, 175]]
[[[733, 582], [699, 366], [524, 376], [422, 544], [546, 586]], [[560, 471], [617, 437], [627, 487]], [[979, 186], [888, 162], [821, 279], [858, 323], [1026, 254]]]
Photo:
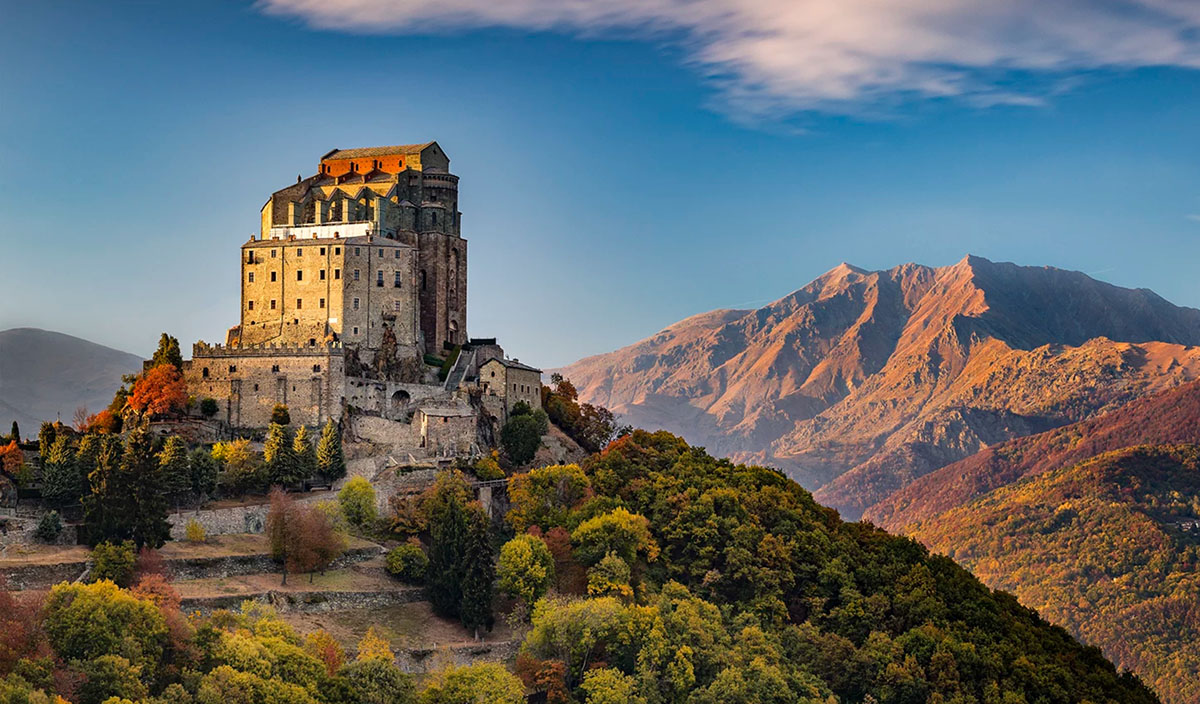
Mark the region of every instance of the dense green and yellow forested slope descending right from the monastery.
[[510, 493], [512, 528], [566, 530], [592, 565], [590, 596], [540, 602], [523, 650], [574, 692], [604, 662], [637, 702], [1158, 700], [950, 559], [665, 432]]

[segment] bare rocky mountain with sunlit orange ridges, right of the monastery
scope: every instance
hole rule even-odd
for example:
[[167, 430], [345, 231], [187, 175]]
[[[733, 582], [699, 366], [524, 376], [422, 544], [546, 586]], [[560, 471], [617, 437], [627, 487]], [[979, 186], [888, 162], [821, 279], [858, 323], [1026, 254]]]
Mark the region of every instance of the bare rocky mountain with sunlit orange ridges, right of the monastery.
[[842, 264], [563, 369], [581, 399], [768, 463], [851, 518], [983, 447], [1200, 375], [1200, 311], [1050, 267]]

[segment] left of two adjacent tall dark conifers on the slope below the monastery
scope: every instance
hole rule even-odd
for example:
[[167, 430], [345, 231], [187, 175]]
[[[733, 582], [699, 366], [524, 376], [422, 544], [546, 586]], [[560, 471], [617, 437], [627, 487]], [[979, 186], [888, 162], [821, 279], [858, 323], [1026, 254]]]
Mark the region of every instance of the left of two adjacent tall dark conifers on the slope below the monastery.
[[439, 489], [430, 501], [430, 567], [425, 584], [433, 612], [455, 618], [462, 609], [467, 506], [456, 493]]

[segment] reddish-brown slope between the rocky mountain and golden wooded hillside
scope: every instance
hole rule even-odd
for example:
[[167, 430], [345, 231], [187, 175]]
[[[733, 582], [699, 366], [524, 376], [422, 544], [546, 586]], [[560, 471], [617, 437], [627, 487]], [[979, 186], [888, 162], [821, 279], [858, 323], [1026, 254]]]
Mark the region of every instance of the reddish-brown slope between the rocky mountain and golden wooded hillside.
[[1200, 383], [1140, 398], [1114, 411], [988, 447], [912, 482], [864, 518], [894, 532], [977, 497], [1112, 450], [1200, 443]]

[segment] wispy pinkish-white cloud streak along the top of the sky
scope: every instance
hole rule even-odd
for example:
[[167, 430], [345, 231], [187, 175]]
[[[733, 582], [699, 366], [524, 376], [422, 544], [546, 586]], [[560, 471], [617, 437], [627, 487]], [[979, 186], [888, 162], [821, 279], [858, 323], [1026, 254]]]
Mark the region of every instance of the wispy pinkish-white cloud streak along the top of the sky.
[[[1200, 67], [1200, 0], [259, 0], [364, 34], [514, 28], [678, 43], [744, 116], [905, 97], [1037, 104], [1072, 73]], [[1014, 77], [1018, 80], [1014, 80]]]

